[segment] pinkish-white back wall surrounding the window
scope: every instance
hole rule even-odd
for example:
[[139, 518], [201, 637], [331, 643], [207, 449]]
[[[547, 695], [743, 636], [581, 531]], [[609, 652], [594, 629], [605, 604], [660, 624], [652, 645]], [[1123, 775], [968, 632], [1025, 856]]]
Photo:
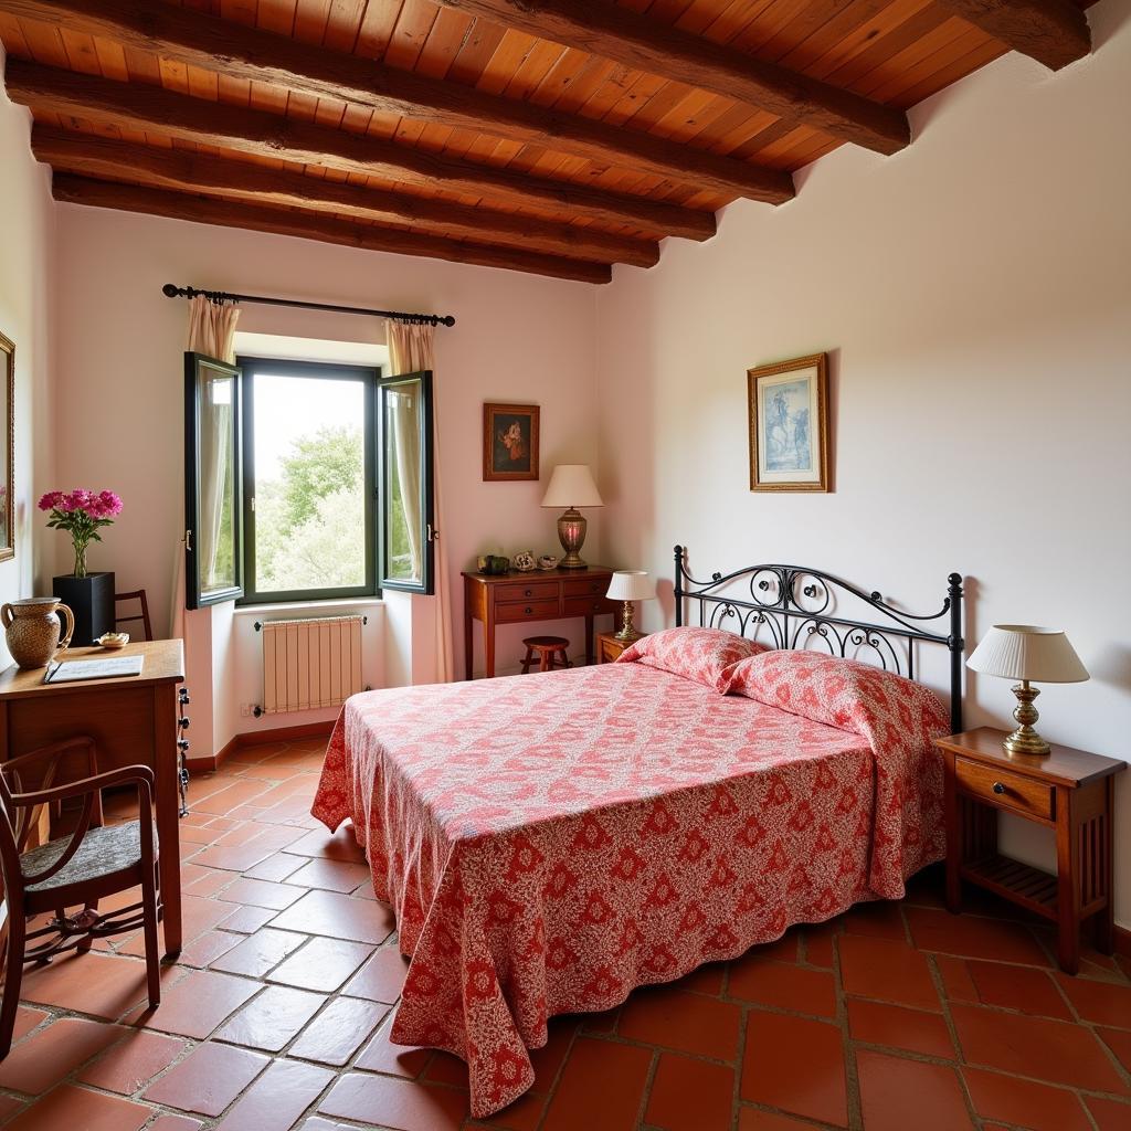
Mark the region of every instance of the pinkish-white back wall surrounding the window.
[[[512, 554], [532, 546], [536, 552], [555, 549], [556, 513], [538, 507], [546, 478], [555, 463], [596, 463], [594, 288], [70, 205], [58, 207], [58, 224], [57, 389], [68, 405], [59, 423], [59, 475], [67, 484], [109, 486], [123, 497], [126, 509], [92, 551], [92, 567], [114, 570], [120, 588], [144, 586], [162, 631], [169, 623], [172, 563], [183, 529], [181, 357], [188, 317], [187, 304], [165, 299], [162, 285], [189, 283], [456, 316], [454, 328], [437, 333], [437, 389], [446, 511], [441, 536], [448, 546], [461, 671], [459, 571], [489, 550]], [[383, 323], [375, 319], [269, 307], [248, 305], [240, 329], [337, 342], [383, 340]], [[542, 406], [541, 483], [482, 482], [484, 400]], [[590, 517], [595, 526], [589, 546], [596, 551], [599, 516]], [[596, 553], [592, 556], [598, 560]], [[399, 675], [386, 658], [392, 682], [430, 667], [431, 633], [416, 630], [429, 613], [412, 612], [413, 650]], [[247, 651], [240, 623], [238, 618], [227, 624], [225, 618], [217, 624], [213, 618], [211, 656], [228, 647], [221, 637], [231, 639], [233, 630], [242, 641], [239, 654]], [[563, 628], [580, 640], [579, 622]], [[520, 625], [500, 630], [502, 666], [517, 664], [523, 634]], [[206, 648], [205, 665], [208, 661]], [[214, 668], [222, 671], [216, 664]], [[236, 732], [309, 720], [256, 724], [240, 717], [248, 693], [240, 679], [234, 690], [230, 682], [217, 689], [214, 745]], [[199, 685], [200, 680], [198, 675], [195, 682]], [[196, 754], [202, 752], [201, 729], [195, 728], [195, 734]]]

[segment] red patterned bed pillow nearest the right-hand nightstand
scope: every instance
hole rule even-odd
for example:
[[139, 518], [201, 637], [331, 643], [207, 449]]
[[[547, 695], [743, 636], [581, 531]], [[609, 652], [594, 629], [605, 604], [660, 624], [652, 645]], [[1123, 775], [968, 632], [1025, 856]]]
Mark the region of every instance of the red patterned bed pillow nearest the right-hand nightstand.
[[[733, 664], [722, 682], [720, 690], [728, 694], [862, 737], [891, 740], [903, 728], [930, 741], [950, 732], [950, 716], [933, 691], [858, 659], [819, 651], [766, 651]], [[878, 729], [888, 733], [877, 735]]]

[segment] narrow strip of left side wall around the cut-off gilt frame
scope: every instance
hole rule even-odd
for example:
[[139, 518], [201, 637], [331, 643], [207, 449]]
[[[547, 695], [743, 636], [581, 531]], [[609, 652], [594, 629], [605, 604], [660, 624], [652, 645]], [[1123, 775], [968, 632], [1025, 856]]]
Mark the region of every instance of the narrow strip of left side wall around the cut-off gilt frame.
[[[31, 115], [8, 101], [0, 84], [0, 333], [16, 344], [16, 556], [0, 563], [0, 602], [32, 596], [36, 577], [44, 580], [33, 544], [43, 520], [35, 500], [54, 486], [48, 385], [52, 207], [46, 171], [28, 148], [29, 130]], [[0, 667], [9, 663], [0, 633]]]

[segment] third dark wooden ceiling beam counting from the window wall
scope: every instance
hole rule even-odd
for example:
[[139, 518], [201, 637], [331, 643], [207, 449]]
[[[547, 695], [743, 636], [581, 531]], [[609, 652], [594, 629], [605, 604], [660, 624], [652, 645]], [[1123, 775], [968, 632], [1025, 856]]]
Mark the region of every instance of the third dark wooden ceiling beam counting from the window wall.
[[8, 59], [5, 83], [14, 102], [33, 110], [423, 189], [448, 189], [482, 198], [485, 208], [492, 200], [506, 201], [544, 208], [568, 219], [629, 224], [665, 235], [706, 240], [715, 234], [713, 213], [458, 161], [148, 84], [119, 83], [12, 58]]

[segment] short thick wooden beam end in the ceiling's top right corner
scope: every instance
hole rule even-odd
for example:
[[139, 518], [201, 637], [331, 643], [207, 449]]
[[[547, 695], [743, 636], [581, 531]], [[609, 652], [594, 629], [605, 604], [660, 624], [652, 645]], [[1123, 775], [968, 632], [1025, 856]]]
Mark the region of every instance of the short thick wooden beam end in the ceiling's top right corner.
[[1060, 70], [1091, 51], [1088, 18], [1071, 0], [935, 0], [1013, 51]]

